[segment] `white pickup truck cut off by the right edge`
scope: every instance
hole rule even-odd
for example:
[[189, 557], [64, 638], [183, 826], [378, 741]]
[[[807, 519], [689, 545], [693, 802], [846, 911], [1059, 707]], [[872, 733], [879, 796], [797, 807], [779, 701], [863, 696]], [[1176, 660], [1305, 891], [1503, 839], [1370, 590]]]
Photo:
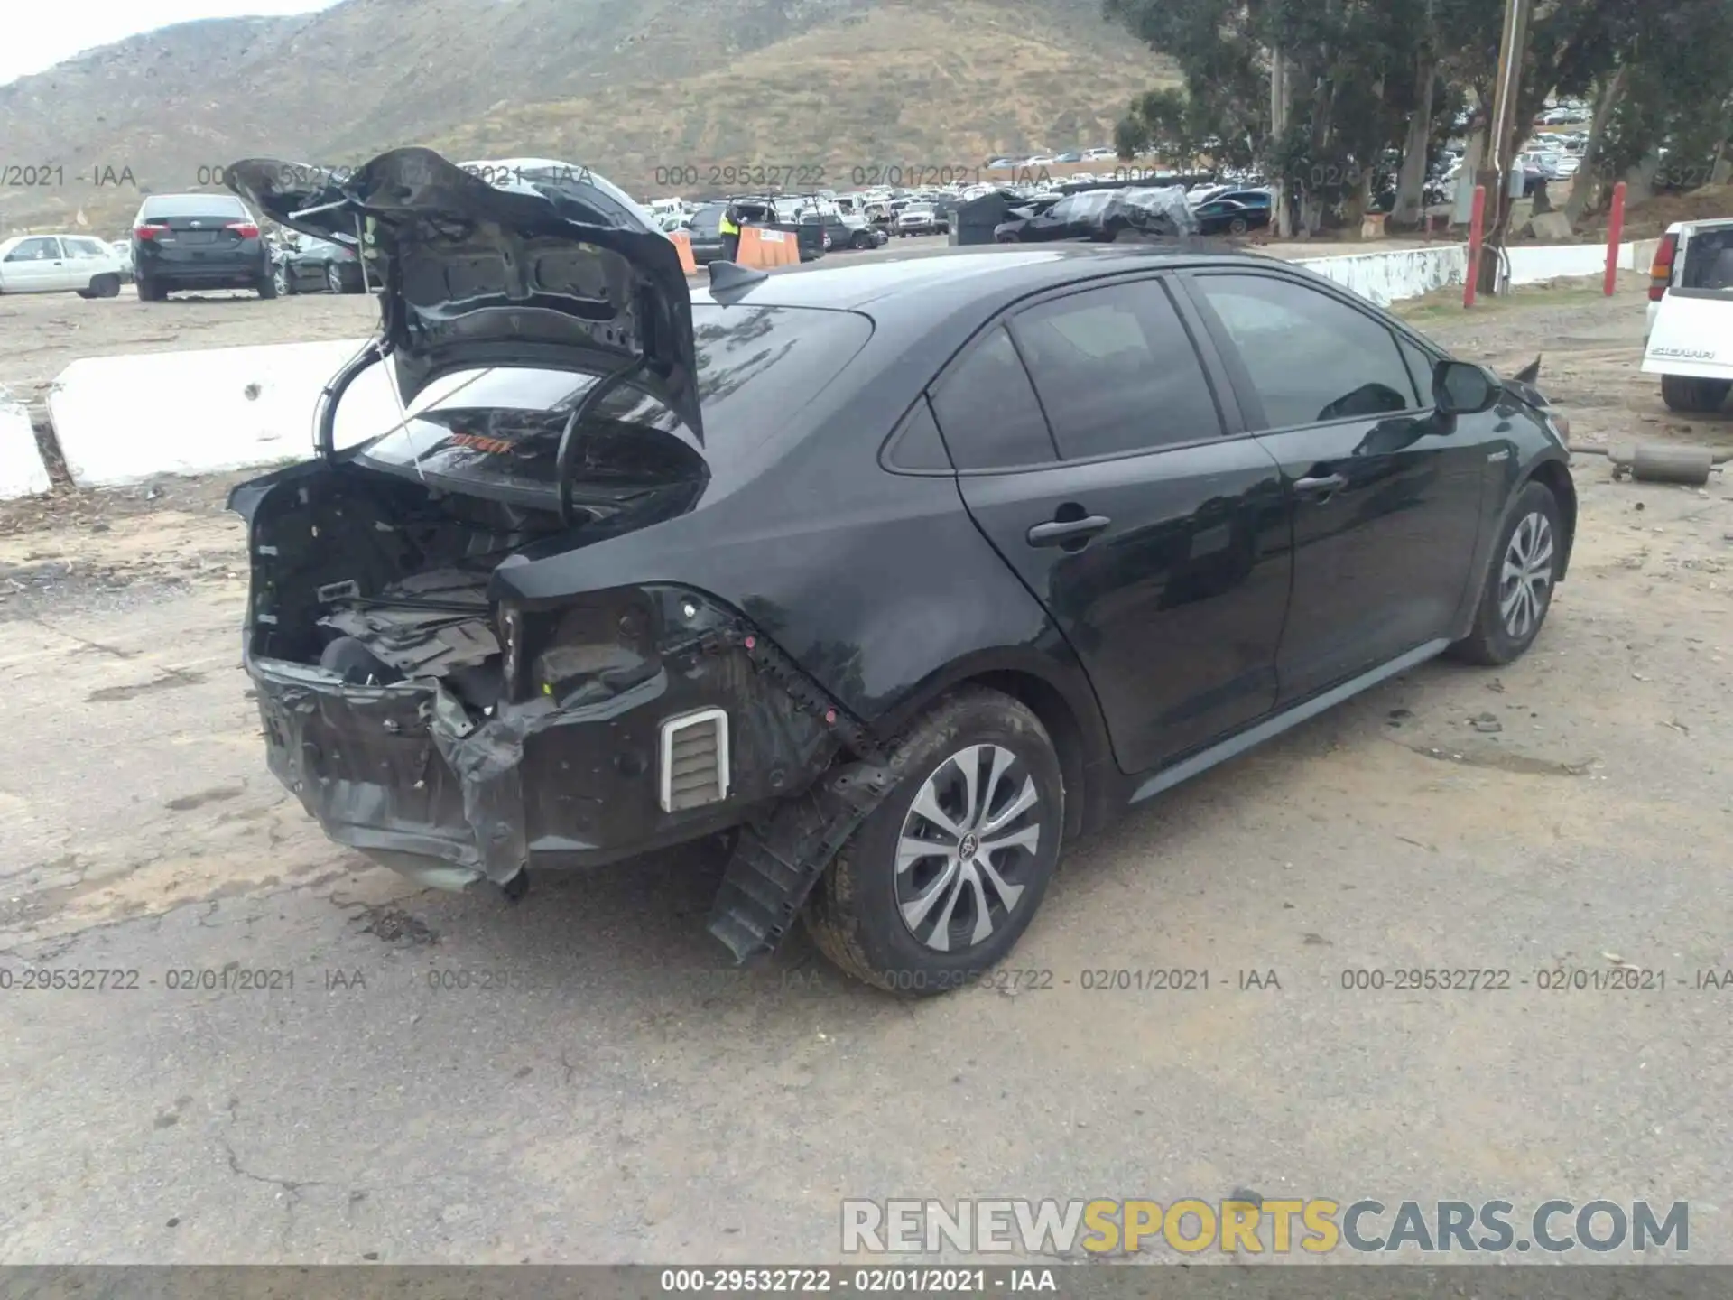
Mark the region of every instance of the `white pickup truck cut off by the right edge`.
[[1648, 298], [1643, 373], [1672, 411], [1719, 411], [1733, 392], [1733, 217], [1669, 225]]

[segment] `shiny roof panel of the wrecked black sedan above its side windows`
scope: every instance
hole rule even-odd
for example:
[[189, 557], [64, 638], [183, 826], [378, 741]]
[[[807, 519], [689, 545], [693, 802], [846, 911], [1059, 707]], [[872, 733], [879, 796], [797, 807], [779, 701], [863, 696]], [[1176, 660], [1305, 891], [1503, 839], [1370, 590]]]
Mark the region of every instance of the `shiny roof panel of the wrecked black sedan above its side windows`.
[[[866, 303], [918, 303], [920, 300], [951, 302], [958, 289], [979, 288], [983, 293], [1007, 289], [1038, 293], [1054, 284], [1090, 276], [1107, 276], [1116, 270], [1140, 267], [1184, 265], [1208, 255], [1210, 260], [1234, 260], [1243, 265], [1291, 267], [1289, 262], [1255, 253], [1218, 253], [1213, 246], [1177, 244], [1048, 244], [1029, 248], [1022, 244], [983, 244], [979, 250], [958, 253], [939, 250], [927, 255], [877, 258], [839, 267], [813, 267], [799, 274], [769, 276], [757, 284], [737, 289], [728, 302], [763, 307], [828, 307], [853, 310]], [[695, 302], [709, 298], [705, 289], [693, 293]]]

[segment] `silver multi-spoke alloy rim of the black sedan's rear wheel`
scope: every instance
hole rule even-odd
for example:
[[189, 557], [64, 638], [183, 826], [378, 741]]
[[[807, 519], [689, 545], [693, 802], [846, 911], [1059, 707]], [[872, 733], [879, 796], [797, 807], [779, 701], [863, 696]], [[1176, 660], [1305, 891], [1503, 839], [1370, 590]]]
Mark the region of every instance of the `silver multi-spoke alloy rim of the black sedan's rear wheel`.
[[1003, 745], [969, 745], [927, 777], [896, 842], [896, 910], [936, 952], [986, 943], [1024, 894], [1042, 837], [1035, 777]]

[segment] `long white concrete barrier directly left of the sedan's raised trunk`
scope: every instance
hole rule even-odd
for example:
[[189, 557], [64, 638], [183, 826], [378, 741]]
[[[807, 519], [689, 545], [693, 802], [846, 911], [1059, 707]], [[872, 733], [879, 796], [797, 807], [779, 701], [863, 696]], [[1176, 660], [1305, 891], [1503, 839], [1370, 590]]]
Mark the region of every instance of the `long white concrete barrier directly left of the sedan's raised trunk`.
[[[80, 487], [305, 459], [319, 392], [366, 340], [85, 357], [55, 380], [49, 418]], [[399, 421], [386, 366], [350, 387], [340, 447]]]

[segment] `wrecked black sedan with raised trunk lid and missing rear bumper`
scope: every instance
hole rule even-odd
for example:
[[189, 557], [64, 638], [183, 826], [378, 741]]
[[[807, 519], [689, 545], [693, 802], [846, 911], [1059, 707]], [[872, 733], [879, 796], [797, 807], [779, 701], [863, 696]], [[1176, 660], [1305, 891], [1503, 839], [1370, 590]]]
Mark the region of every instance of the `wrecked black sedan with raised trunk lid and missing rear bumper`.
[[[1534, 373], [1281, 262], [1009, 246], [690, 291], [587, 172], [291, 173], [234, 170], [286, 225], [364, 222], [385, 319], [321, 454], [232, 496], [246, 667], [277, 777], [430, 884], [726, 832], [738, 959], [804, 915], [863, 979], [955, 988], [1062, 846], [1433, 655], [1509, 662], [1565, 575]], [[380, 361], [409, 416], [333, 449]]]

